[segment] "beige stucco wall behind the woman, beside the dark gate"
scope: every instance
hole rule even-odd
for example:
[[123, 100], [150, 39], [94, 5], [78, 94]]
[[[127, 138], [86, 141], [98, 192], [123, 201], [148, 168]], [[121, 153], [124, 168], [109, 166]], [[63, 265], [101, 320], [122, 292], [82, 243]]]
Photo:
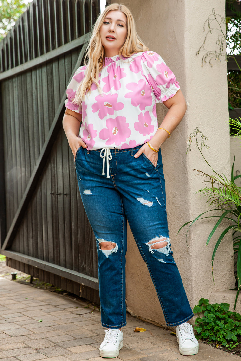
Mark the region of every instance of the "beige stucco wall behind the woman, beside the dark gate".
[[[115, 2], [115, 1], [112, 1]], [[217, 235], [206, 247], [205, 242], [214, 222], [199, 221], [188, 233], [176, 237], [180, 226], [208, 209], [206, 200], [195, 194], [203, 186], [193, 168], [207, 170], [198, 150], [186, 155], [186, 139], [198, 126], [208, 137], [210, 149], [205, 156], [217, 171], [230, 174], [228, 129], [227, 65], [213, 61], [213, 67], [201, 66], [196, 52], [203, 42], [203, 24], [215, 8], [225, 16], [225, 1], [220, 0], [132, 0], [121, 1], [133, 12], [138, 34], [146, 45], [158, 52], [173, 70], [185, 95], [186, 115], [162, 146], [167, 191], [167, 212], [172, 250], [180, 270], [191, 307], [201, 297], [220, 302], [221, 296], [234, 287], [231, 235], [219, 247], [214, 262], [215, 286], [212, 282], [211, 256]], [[217, 34], [206, 43], [215, 49]], [[158, 107], [159, 122], [166, 112]], [[220, 234], [220, 231], [219, 231]], [[164, 317], [146, 265], [138, 253], [129, 231], [126, 264], [126, 298], [130, 312], [164, 325]], [[170, 282], [172, 279], [170, 277]], [[220, 292], [219, 292], [220, 291]], [[235, 293], [234, 293], [235, 294]]]

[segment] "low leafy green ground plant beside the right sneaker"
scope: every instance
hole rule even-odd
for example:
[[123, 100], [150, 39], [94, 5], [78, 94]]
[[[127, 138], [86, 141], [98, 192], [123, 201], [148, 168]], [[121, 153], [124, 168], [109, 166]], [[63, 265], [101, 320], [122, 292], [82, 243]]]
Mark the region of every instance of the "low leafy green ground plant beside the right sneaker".
[[209, 304], [207, 299], [201, 298], [194, 306], [193, 313], [197, 313], [194, 329], [197, 339], [205, 339], [227, 347], [229, 351], [241, 342], [241, 315], [229, 311], [228, 303]]

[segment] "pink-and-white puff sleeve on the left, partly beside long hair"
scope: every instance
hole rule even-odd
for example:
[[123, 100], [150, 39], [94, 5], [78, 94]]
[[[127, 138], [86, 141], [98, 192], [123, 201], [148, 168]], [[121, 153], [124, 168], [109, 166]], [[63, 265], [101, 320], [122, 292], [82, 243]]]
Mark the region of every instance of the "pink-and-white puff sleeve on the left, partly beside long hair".
[[70, 83], [68, 84], [68, 87], [67, 87], [67, 90], [66, 90], [66, 94], [67, 94], [68, 99], [66, 99], [64, 101], [64, 104], [65, 104], [66, 108], [68, 108], [70, 110], [73, 110], [73, 112], [80, 113], [80, 114], [82, 114], [82, 105], [81, 104], [74, 104], [73, 100], [74, 100], [74, 97], [76, 95], [76, 90], [77, 90], [77, 88], [79, 86], [79, 83], [85, 77], [85, 73], [84, 73], [85, 69], [86, 69], [86, 66], [81, 66], [74, 73], [74, 76], [71, 79]]

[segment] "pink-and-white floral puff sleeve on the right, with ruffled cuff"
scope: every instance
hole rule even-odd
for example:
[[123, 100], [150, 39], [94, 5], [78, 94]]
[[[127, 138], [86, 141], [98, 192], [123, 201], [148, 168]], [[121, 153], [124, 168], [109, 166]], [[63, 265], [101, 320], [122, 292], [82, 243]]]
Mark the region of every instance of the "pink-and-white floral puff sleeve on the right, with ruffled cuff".
[[162, 103], [170, 99], [180, 89], [175, 75], [157, 53], [153, 51], [143, 52], [141, 66], [143, 75], [151, 86], [157, 102]]

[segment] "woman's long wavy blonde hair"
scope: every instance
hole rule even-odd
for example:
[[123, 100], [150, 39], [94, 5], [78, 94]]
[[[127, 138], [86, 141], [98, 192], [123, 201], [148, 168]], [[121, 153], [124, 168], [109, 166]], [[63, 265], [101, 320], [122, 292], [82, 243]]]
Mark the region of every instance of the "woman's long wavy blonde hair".
[[[81, 101], [85, 99], [85, 94], [91, 90], [92, 83], [95, 83], [100, 94], [102, 93], [102, 89], [99, 85], [99, 72], [104, 66], [105, 56], [104, 47], [100, 38], [100, 27], [102, 26], [107, 13], [111, 10], [121, 11], [127, 18], [127, 36], [125, 43], [119, 51], [120, 57], [129, 57], [134, 53], [149, 50], [137, 35], [135, 30], [135, 21], [130, 10], [125, 5], [117, 3], [107, 6], [103, 13], [99, 15], [92, 31], [92, 36], [90, 38], [84, 60], [84, 64], [87, 65], [85, 77], [77, 88], [76, 95], [74, 97], [75, 104], [80, 104]], [[87, 63], [86, 59], [88, 59]]]

